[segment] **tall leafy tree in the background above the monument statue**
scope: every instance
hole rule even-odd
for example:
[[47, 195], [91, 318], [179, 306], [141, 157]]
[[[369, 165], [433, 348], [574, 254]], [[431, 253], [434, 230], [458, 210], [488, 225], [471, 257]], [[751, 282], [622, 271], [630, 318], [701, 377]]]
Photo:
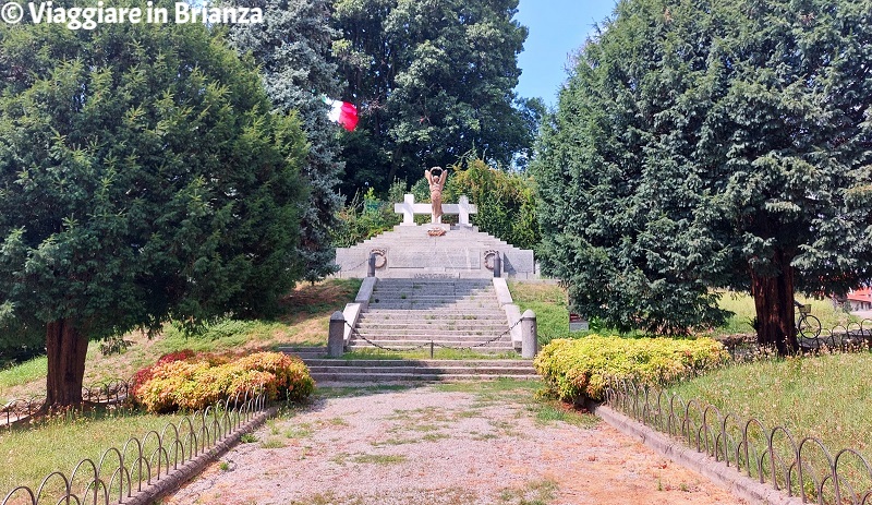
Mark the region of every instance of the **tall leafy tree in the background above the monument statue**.
[[[361, 110], [343, 190], [386, 192], [469, 152], [507, 167], [532, 145], [537, 103], [513, 92], [526, 28], [517, 0], [338, 0], [334, 52]], [[536, 121], [533, 121], [534, 123]]]

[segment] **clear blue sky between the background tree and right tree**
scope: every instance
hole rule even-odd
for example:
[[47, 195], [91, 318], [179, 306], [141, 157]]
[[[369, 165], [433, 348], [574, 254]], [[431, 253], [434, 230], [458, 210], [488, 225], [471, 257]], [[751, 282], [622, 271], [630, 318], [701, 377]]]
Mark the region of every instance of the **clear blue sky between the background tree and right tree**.
[[615, 9], [616, 0], [520, 0], [514, 19], [530, 29], [518, 56], [523, 71], [516, 91], [557, 105], [566, 81], [569, 56], [588, 38], [597, 23]]

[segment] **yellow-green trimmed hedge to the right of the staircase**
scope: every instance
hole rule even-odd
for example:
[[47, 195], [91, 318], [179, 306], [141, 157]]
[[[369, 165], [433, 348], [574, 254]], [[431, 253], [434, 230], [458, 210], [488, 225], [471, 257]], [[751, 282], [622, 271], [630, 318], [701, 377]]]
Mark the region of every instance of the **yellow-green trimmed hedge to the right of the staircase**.
[[689, 373], [711, 370], [729, 359], [711, 338], [620, 338], [590, 335], [552, 340], [534, 366], [549, 393], [564, 401], [602, 401], [609, 378], [665, 384]]

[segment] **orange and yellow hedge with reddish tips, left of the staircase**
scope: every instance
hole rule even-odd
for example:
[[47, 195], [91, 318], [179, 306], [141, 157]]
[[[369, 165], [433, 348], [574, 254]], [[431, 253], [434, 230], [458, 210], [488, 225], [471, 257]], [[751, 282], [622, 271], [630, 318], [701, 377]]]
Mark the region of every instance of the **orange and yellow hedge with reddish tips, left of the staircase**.
[[235, 360], [180, 351], [161, 357], [134, 377], [133, 396], [149, 412], [201, 410], [249, 390], [264, 389], [271, 400], [299, 401], [315, 381], [299, 359], [279, 352], [256, 352]]

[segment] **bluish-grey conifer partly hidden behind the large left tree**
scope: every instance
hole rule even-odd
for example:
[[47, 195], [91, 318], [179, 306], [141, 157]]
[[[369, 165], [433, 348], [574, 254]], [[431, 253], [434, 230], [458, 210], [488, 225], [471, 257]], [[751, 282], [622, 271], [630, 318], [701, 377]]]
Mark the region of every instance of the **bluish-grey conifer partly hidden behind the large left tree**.
[[334, 32], [329, 27], [327, 0], [255, 0], [246, 7], [259, 7], [264, 22], [235, 25], [231, 44], [240, 52], [251, 53], [261, 67], [269, 97], [282, 112], [298, 110], [310, 144], [303, 173], [311, 193], [303, 211], [300, 255], [304, 258], [305, 278], [314, 281], [334, 272], [335, 250], [329, 230], [336, 226], [341, 205], [338, 136], [341, 127], [327, 118], [320, 96], [340, 98], [341, 87], [336, 64], [330, 62]]

